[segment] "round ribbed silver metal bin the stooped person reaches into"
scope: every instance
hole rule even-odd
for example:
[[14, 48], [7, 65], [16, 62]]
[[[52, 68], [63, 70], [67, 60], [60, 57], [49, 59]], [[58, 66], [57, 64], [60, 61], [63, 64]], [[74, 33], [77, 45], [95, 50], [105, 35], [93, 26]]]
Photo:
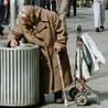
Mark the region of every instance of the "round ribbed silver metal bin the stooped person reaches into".
[[39, 102], [39, 46], [0, 47], [0, 106]]

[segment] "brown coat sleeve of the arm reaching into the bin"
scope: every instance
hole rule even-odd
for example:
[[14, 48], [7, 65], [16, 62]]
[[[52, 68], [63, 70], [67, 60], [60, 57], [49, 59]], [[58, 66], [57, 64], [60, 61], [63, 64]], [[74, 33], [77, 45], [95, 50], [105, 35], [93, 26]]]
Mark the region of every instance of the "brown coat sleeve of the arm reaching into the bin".
[[19, 20], [17, 26], [9, 32], [7, 42], [9, 43], [13, 39], [19, 41], [22, 37], [23, 37], [23, 29], [22, 29], [21, 20]]

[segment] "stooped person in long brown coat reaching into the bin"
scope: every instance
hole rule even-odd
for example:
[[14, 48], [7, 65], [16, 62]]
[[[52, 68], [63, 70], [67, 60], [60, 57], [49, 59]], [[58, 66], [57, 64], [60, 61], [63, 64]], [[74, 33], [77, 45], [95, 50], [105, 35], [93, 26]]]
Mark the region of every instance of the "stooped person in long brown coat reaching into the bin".
[[28, 43], [40, 46], [39, 105], [44, 104], [44, 94], [51, 93], [54, 93], [55, 102], [62, 104], [62, 80], [56, 53], [60, 54], [64, 85], [67, 87], [72, 84], [65, 25], [55, 12], [37, 6], [24, 6], [19, 14], [21, 19], [18, 25], [8, 35], [8, 46], [18, 46], [22, 37], [25, 37]]

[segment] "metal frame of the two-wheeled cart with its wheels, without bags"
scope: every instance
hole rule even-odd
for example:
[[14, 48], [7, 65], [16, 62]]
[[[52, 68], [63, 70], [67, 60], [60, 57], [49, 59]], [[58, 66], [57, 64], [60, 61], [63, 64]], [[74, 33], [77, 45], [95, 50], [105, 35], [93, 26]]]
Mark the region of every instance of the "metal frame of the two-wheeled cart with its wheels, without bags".
[[[80, 25], [78, 25], [77, 26], [77, 33], [76, 33], [76, 43], [77, 43], [77, 41], [79, 41], [79, 76], [80, 76], [80, 78], [78, 79], [78, 82], [82, 84], [82, 85], [85, 85], [86, 86], [86, 88], [87, 88], [87, 90], [86, 91], [79, 91], [77, 88], [76, 88], [76, 80], [77, 80], [77, 78], [76, 78], [76, 76], [75, 76], [75, 87], [73, 87], [73, 88], [71, 88], [71, 90], [69, 90], [69, 96], [75, 100], [75, 102], [78, 105], [78, 106], [84, 106], [84, 105], [86, 105], [87, 104], [87, 101], [88, 101], [88, 95], [90, 95], [90, 94], [94, 94], [94, 95], [96, 95], [95, 94], [95, 91], [89, 87], [89, 86], [87, 86], [86, 85], [86, 82], [85, 82], [85, 79], [84, 79], [84, 77], [83, 77], [83, 72], [82, 72], [82, 57], [80, 57], [80, 48], [82, 48], [82, 39], [80, 39], [80, 35], [82, 35], [82, 26]], [[76, 73], [76, 71], [74, 71], [75, 73]], [[98, 96], [96, 95], [96, 98], [97, 99], [94, 99], [93, 98], [93, 100], [96, 102], [96, 104], [100, 104], [100, 101], [99, 101], [99, 98], [98, 98]]]

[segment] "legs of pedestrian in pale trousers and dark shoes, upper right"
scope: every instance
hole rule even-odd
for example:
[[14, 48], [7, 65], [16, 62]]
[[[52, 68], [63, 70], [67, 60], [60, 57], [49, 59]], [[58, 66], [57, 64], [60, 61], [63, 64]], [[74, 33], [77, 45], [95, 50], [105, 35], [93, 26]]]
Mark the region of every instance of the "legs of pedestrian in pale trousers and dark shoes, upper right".
[[95, 22], [95, 29], [96, 32], [99, 32], [100, 30], [105, 30], [105, 19], [106, 19], [106, 7], [107, 7], [107, 0], [94, 0], [93, 3], [94, 7], [94, 22]]

